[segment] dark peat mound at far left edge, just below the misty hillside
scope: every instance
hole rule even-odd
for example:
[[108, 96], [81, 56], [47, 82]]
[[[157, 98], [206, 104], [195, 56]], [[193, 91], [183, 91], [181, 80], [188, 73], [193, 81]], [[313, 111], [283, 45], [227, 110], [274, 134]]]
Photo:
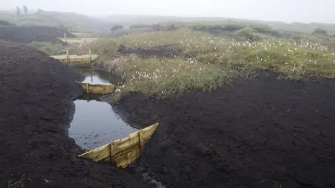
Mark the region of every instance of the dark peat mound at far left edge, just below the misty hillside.
[[56, 42], [62, 45], [66, 44], [58, 38], [75, 38], [72, 33], [52, 26], [0, 26], [0, 39], [12, 40], [14, 42], [30, 43], [38, 42]]

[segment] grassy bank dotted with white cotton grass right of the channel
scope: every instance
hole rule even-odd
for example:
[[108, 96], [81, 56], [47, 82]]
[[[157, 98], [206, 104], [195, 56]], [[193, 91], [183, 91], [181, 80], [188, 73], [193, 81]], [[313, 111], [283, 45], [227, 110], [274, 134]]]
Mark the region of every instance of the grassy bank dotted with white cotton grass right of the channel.
[[[105, 58], [101, 65], [122, 75], [126, 81], [115, 95], [116, 100], [133, 92], [165, 97], [195, 89], [213, 91], [253, 70], [270, 69], [293, 80], [335, 77], [334, 52], [317, 42], [274, 38], [251, 42], [189, 30], [140, 33], [103, 41], [92, 44]], [[121, 56], [117, 53], [118, 45], [158, 52], [160, 47], [171, 45], [178, 52], [191, 54], [192, 58]], [[114, 60], [106, 61], [108, 57]]]

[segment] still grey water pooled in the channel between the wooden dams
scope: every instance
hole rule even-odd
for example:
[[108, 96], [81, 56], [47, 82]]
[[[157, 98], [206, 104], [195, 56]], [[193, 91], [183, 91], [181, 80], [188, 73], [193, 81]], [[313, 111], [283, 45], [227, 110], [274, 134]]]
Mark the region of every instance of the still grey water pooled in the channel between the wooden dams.
[[[84, 71], [83, 71], [84, 72]], [[101, 76], [101, 72], [84, 72], [85, 80], [89, 84], [114, 84], [112, 76]], [[113, 80], [114, 79], [114, 80]], [[99, 100], [101, 96], [84, 96], [75, 100], [75, 114], [70, 123], [68, 134], [75, 139], [78, 146], [85, 150], [92, 150], [110, 141], [124, 139], [137, 129], [124, 123], [114, 113], [107, 102]]]

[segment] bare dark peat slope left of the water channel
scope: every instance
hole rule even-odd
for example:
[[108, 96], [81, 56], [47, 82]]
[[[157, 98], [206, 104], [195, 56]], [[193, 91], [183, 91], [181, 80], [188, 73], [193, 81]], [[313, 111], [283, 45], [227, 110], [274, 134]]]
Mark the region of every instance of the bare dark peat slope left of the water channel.
[[73, 68], [0, 41], [0, 77], [0, 187], [22, 177], [24, 187], [147, 187], [142, 177], [77, 158], [83, 150], [66, 136], [82, 94]]

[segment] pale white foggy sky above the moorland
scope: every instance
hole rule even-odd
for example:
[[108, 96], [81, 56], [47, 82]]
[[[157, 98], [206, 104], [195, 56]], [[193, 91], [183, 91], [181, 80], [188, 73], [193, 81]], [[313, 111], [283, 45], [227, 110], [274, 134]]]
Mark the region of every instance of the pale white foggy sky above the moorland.
[[16, 6], [102, 16], [112, 14], [234, 17], [283, 22], [335, 23], [335, 0], [1, 0]]

